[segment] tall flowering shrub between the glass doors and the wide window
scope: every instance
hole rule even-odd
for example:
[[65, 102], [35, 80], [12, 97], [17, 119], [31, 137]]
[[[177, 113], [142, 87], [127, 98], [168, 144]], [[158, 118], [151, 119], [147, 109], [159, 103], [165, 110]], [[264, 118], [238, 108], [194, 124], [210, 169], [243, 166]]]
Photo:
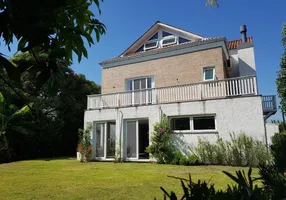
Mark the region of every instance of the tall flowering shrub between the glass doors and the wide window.
[[170, 120], [163, 114], [160, 122], [154, 124], [151, 145], [146, 149], [148, 153], [156, 158], [158, 163], [169, 164], [175, 158], [176, 148], [171, 139], [171, 134]]

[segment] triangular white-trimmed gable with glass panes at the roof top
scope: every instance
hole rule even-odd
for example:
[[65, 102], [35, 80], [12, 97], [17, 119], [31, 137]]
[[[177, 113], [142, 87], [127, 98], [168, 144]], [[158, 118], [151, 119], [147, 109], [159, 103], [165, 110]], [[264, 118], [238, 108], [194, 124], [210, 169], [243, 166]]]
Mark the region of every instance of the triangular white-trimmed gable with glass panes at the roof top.
[[120, 57], [198, 39], [203, 39], [203, 37], [161, 22], [156, 22], [137, 41], [128, 47]]

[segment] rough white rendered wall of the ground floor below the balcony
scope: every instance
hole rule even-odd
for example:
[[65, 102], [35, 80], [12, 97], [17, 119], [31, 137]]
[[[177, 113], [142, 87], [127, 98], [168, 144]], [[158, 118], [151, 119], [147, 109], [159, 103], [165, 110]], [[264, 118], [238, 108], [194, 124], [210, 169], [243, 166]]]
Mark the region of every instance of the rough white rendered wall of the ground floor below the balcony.
[[[265, 142], [261, 96], [148, 105], [120, 109], [90, 110], [85, 112], [84, 121], [87, 123], [116, 120], [116, 136], [118, 139], [116, 149], [118, 149], [120, 130], [124, 135], [122, 119], [149, 119], [149, 133], [151, 137], [153, 124], [160, 120], [160, 110], [167, 116], [215, 114], [217, 130], [214, 132], [174, 134], [176, 141], [178, 141], [178, 146], [180, 146], [182, 150], [186, 150], [188, 146], [196, 146], [199, 137], [214, 142], [217, 136], [229, 140], [230, 133], [246, 133], [255, 139]], [[124, 142], [122, 138], [121, 141]], [[185, 146], [183, 143], [185, 143]], [[123, 146], [121, 146], [121, 149], [124, 150]]]

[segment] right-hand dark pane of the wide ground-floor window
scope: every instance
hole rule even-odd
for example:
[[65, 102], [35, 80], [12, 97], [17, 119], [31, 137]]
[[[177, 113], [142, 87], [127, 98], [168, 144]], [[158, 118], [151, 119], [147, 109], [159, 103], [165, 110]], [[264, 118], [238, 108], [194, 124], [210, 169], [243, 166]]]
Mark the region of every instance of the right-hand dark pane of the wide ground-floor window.
[[215, 130], [215, 117], [193, 117], [194, 130]]

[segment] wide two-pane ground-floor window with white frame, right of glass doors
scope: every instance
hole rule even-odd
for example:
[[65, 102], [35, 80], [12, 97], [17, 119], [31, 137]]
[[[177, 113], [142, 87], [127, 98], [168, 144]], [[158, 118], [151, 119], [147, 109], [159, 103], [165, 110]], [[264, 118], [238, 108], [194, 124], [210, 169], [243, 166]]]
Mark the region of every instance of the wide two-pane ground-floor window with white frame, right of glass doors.
[[215, 115], [171, 117], [174, 132], [215, 131]]

